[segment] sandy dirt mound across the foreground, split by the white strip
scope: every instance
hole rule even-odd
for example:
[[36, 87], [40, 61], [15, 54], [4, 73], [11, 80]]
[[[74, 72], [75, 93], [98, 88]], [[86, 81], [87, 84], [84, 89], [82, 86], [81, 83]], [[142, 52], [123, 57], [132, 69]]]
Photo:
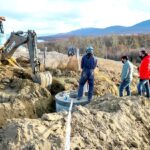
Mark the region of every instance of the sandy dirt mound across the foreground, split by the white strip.
[[[71, 150], [149, 149], [150, 101], [105, 95], [72, 114]], [[0, 149], [64, 149], [66, 112], [13, 119], [0, 130]]]

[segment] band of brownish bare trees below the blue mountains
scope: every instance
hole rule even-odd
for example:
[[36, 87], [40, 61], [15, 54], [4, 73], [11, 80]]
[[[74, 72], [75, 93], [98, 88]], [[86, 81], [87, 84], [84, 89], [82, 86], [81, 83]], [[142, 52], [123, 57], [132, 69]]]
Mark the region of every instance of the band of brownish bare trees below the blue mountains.
[[48, 51], [65, 54], [71, 46], [79, 48], [80, 54], [84, 54], [89, 45], [93, 46], [94, 54], [97, 57], [120, 60], [122, 55], [129, 55], [132, 61], [138, 61], [139, 50], [141, 48], [150, 49], [150, 34], [70, 37], [38, 43], [38, 47], [42, 51], [47, 47]]

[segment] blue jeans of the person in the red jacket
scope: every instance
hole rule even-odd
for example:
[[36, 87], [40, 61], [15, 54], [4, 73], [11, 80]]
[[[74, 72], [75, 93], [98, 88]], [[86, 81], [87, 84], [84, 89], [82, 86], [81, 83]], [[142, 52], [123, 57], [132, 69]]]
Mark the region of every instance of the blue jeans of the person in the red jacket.
[[149, 87], [149, 80], [142, 80], [140, 79], [140, 82], [137, 86], [138, 94], [143, 95], [143, 89], [145, 88], [146, 96], [150, 97], [150, 87]]

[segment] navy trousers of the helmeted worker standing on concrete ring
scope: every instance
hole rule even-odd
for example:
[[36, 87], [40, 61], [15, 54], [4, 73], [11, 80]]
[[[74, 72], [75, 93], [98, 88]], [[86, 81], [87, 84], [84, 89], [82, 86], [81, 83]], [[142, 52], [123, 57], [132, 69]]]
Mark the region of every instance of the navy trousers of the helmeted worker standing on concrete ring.
[[88, 81], [89, 90], [88, 90], [88, 101], [92, 100], [93, 96], [93, 89], [94, 89], [94, 73], [93, 72], [82, 72], [81, 79], [79, 82], [79, 89], [78, 89], [78, 98], [80, 99], [83, 96], [83, 88], [85, 83]]

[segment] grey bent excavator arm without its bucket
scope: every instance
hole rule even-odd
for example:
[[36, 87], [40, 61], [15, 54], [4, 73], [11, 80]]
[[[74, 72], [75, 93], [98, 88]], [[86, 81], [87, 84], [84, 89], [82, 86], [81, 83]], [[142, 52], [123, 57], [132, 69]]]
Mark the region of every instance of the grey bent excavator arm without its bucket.
[[37, 54], [37, 36], [36, 33], [32, 30], [28, 30], [28, 32], [12, 32], [9, 39], [4, 44], [2, 49], [2, 58], [1, 61], [5, 62], [9, 61], [10, 63], [15, 63], [11, 58], [15, 53], [16, 49], [23, 45], [27, 44], [29, 50], [30, 63], [32, 66], [33, 73], [37, 73], [40, 71], [40, 61], [38, 59]]

